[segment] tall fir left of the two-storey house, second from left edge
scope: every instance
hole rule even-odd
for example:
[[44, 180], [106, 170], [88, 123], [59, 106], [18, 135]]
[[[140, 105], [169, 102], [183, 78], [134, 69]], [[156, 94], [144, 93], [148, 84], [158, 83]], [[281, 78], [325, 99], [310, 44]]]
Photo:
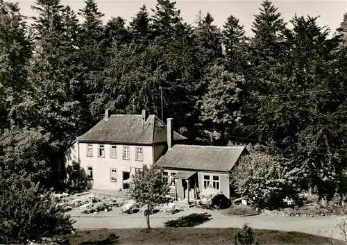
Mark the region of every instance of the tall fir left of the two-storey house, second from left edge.
[[50, 177], [55, 180], [51, 185], [61, 187], [58, 169], [64, 151], [81, 133], [76, 130], [81, 124], [78, 90], [82, 74], [76, 47], [77, 19], [59, 1], [38, 0], [33, 8], [39, 16], [33, 23], [35, 56], [28, 74], [34, 92], [17, 105], [14, 121], [18, 126], [49, 133], [50, 148], [45, 154], [50, 160]]

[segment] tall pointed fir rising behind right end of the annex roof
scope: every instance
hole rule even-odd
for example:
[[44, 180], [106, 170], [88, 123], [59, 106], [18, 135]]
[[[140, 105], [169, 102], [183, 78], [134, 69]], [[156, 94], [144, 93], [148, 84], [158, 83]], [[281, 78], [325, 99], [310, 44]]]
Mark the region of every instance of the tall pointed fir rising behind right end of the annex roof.
[[[286, 23], [273, 3], [269, 0], [262, 2], [260, 13], [255, 15], [252, 31], [254, 37], [248, 42], [247, 67], [244, 72], [246, 79], [244, 97], [271, 96], [276, 87], [271, 81], [271, 67], [281, 62], [289, 48], [285, 33]], [[244, 137], [260, 140], [262, 135], [255, 133], [257, 123], [254, 118], [260, 115], [260, 103], [245, 99], [242, 107], [242, 124], [240, 130]], [[260, 115], [261, 116], [261, 115]]]

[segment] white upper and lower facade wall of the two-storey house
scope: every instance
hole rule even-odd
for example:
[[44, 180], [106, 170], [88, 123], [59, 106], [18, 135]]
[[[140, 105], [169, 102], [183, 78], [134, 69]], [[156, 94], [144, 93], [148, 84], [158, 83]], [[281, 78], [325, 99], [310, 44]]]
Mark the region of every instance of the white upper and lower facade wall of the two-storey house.
[[[90, 143], [89, 143], [90, 144]], [[88, 167], [93, 169], [93, 188], [94, 189], [110, 189], [118, 190], [123, 188], [123, 171], [130, 172], [135, 175], [135, 168], [142, 169], [143, 164], [153, 164], [153, 147], [152, 146], [129, 146], [130, 160], [123, 159], [123, 146], [117, 144], [117, 158], [111, 158], [111, 145], [105, 146], [105, 157], [99, 157], [99, 144], [92, 144], [93, 156], [87, 156], [87, 143], [79, 143], [79, 160], [81, 167], [88, 172]], [[143, 161], [135, 160], [136, 147], [143, 149]], [[69, 150], [70, 159], [78, 161], [78, 144], [71, 146]], [[68, 159], [69, 157], [67, 157]], [[67, 164], [71, 160], [67, 160]], [[111, 169], [117, 170], [117, 181], [110, 180]], [[130, 175], [131, 175], [130, 174]]]

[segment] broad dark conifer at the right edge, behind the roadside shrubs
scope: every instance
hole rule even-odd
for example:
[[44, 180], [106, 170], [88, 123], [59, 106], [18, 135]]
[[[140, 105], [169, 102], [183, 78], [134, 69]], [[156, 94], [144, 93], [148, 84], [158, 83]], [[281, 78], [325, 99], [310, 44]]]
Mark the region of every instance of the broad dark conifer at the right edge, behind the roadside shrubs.
[[257, 135], [278, 142], [291, 169], [299, 169], [303, 189], [330, 198], [341, 191], [347, 167], [343, 154], [336, 151], [344, 149], [347, 135], [346, 68], [341, 66], [346, 52], [316, 18], [295, 16], [291, 24], [290, 51], [272, 69], [274, 95], [260, 100]]

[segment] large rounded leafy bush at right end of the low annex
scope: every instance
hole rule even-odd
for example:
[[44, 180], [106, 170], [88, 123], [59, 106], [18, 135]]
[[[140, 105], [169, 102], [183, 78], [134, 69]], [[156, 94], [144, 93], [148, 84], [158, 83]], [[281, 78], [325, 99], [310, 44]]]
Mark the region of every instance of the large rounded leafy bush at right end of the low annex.
[[296, 172], [289, 171], [286, 159], [271, 155], [266, 146], [247, 147], [249, 154], [239, 159], [232, 169], [230, 182], [240, 196], [248, 196], [260, 208], [282, 208], [288, 196], [298, 199]]

